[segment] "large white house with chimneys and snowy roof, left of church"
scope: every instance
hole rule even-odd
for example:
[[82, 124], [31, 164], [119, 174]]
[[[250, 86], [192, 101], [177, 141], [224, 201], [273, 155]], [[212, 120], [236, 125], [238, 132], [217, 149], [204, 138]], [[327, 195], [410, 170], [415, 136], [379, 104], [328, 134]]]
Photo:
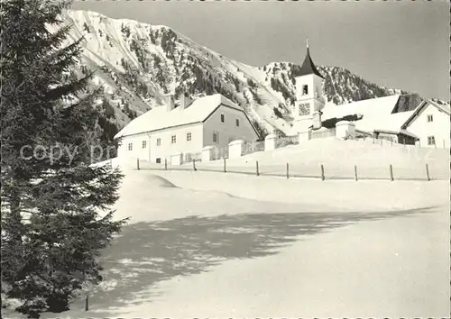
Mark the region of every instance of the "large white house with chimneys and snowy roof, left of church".
[[152, 163], [173, 157], [178, 157], [179, 163], [189, 161], [206, 146], [221, 150], [230, 141], [258, 138], [244, 109], [219, 94], [194, 101], [185, 95], [174, 101], [169, 95], [166, 105], [152, 108], [115, 135], [120, 139], [118, 158]]

